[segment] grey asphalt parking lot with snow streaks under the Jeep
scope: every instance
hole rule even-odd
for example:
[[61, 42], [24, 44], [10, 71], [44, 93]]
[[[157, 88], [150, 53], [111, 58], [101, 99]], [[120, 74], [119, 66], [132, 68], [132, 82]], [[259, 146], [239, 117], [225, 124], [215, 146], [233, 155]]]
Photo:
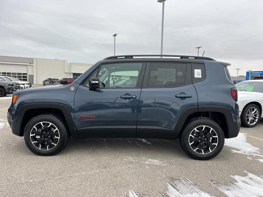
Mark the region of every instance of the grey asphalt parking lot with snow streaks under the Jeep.
[[208, 161], [162, 139], [71, 139], [44, 157], [12, 134], [10, 103], [0, 98], [0, 196], [263, 196], [263, 121]]

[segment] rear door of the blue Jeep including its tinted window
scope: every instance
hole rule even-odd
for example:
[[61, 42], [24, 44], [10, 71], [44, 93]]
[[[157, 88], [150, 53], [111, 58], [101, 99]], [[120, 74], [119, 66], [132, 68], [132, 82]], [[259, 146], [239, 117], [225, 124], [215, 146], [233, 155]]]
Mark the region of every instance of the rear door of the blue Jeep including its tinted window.
[[136, 135], [175, 136], [182, 111], [197, 106], [191, 64], [148, 62], [140, 96]]

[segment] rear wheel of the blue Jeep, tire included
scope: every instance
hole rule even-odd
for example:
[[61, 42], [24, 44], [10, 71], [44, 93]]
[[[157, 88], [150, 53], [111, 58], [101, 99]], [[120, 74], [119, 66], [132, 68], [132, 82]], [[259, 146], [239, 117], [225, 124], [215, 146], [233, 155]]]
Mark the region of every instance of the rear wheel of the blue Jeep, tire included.
[[[209, 134], [210, 131], [213, 135]], [[201, 117], [191, 119], [186, 124], [179, 141], [188, 156], [196, 160], [209, 160], [221, 152], [225, 143], [225, 135], [218, 123], [209, 118]], [[202, 148], [197, 148], [198, 145]]]

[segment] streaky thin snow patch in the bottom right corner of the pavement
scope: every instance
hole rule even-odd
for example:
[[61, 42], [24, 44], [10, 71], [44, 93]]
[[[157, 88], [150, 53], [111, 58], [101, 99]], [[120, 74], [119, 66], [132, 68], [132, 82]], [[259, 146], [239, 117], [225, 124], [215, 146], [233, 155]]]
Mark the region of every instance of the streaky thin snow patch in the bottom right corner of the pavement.
[[210, 181], [214, 186], [216, 186], [220, 191], [225, 193], [225, 195], [229, 197], [234, 196], [262, 196], [263, 194], [263, 179], [262, 177], [258, 177], [254, 174], [251, 174], [247, 171], [246, 176], [231, 176], [237, 182], [230, 183], [227, 182], [225, 184], [217, 183], [216, 181]]

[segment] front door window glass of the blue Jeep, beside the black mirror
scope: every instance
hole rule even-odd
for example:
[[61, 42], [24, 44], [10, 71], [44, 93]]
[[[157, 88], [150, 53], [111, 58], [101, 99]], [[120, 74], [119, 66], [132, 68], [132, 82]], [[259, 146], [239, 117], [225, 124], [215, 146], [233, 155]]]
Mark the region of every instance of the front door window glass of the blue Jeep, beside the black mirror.
[[[102, 64], [98, 73], [100, 88], [136, 87], [141, 68], [140, 62]], [[130, 77], [136, 79], [130, 79]], [[88, 86], [88, 80], [85, 81], [85, 85]]]

